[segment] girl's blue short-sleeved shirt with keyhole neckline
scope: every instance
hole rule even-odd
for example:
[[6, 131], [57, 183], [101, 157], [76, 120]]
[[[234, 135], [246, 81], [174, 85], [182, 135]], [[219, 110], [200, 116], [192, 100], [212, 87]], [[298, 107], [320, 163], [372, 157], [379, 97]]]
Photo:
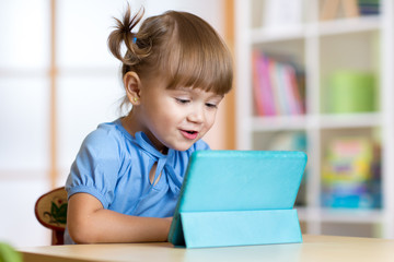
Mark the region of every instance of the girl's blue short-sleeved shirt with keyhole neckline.
[[[118, 213], [169, 217], [174, 214], [189, 156], [209, 150], [197, 141], [187, 151], [161, 154], [142, 132], [130, 135], [120, 119], [102, 123], [83, 141], [66, 182], [68, 198], [95, 196], [104, 209]], [[149, 172], [157, 164], [152, 184]], [[161, 176], [160, 176], [161, 174]]]

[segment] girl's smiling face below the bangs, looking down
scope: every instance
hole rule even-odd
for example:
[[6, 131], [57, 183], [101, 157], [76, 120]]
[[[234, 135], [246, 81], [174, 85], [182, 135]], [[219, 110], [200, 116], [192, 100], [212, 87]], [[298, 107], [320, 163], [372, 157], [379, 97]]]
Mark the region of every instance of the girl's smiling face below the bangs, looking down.
[[159, 151], [188, 150], [213, 126], [223, 96], [201, 88], [167, 90], [148, 81], [140, 92], [140, 120]]

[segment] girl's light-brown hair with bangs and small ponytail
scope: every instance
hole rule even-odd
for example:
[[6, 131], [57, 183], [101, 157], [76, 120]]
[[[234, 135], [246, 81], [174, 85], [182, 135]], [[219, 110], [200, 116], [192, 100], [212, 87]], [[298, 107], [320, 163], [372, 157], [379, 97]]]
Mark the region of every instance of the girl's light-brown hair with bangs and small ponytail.
[[148, 17], [134, 33], [142, 16], [143, 10], [131, 16], [128, 7], [123, 21], [115, 19], [108, 37], [111, 52], [123, 63], [123, 76], [129, 71], [142, 81], [161, 75], [167, 88], [198, 87], [220, 95], [231, 90], [231, 53], [207, 22], [187, 12], [167, 11]]

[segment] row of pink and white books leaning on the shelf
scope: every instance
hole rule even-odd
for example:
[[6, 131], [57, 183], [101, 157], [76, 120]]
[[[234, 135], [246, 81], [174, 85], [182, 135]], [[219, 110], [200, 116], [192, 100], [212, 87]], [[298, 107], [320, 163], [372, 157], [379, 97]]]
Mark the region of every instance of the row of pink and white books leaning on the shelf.
[[302, 115], [304, 73], [286, 59], [253, 52], [253, 88], [258, 116]]

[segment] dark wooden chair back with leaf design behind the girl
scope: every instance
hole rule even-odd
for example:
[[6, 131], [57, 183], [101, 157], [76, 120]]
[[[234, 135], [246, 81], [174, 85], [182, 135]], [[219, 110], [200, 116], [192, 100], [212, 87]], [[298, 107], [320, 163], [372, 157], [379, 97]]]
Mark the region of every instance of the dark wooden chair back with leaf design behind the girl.
[[67, 191], [65, 187], [54, 189], [39, 196], [34, 211], [38, 222], [53, 230], [51, 245], [63, 245], [67, 222]]

